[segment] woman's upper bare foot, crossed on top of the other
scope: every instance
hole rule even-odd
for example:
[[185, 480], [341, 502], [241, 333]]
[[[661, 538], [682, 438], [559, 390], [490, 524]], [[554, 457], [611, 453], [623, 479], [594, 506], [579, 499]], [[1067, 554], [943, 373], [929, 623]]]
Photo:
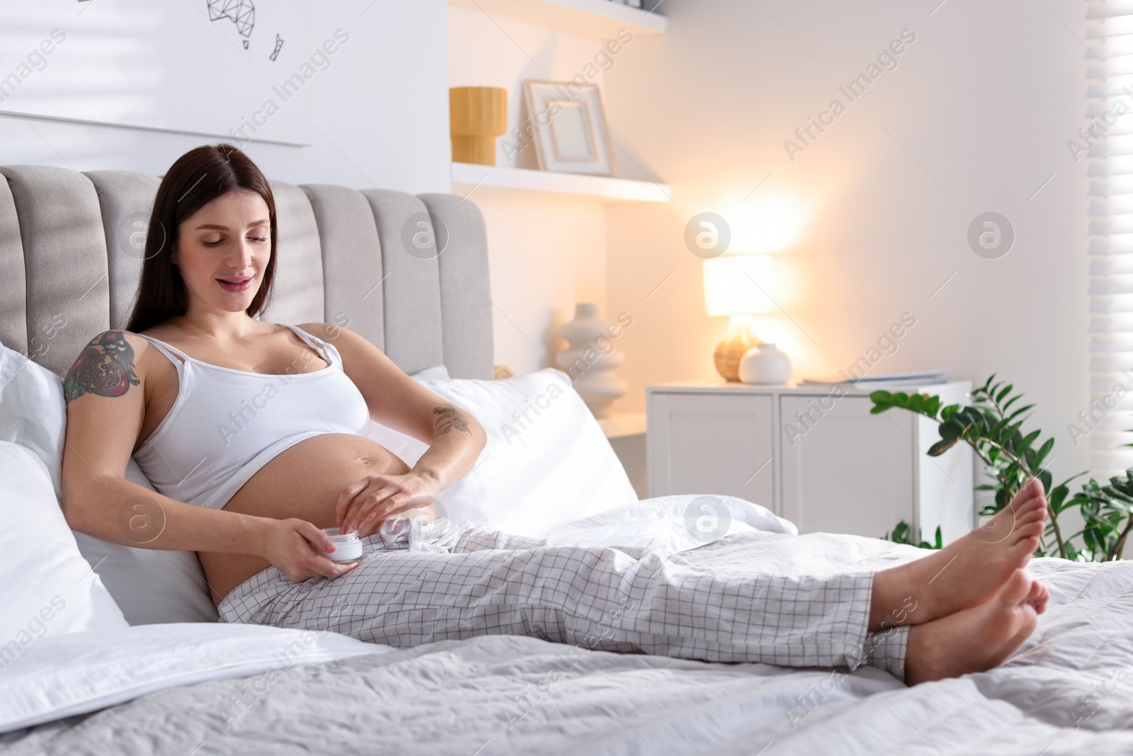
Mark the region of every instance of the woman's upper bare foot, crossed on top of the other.
[[1031, 478], [1010, 504], [963, 538], [925, 559], [878, 572], [869, 629], [930, 622], [985, 603], [1030, 561], [1046, 516], [1042, 482]]

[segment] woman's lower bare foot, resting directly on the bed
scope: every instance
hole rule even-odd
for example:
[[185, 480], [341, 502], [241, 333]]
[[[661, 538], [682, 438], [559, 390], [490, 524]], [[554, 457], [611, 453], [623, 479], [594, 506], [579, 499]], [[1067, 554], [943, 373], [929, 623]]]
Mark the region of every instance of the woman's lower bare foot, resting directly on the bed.
[[986, 604], [909, 628], [905, 683], [998, 666], [1034, 631], [1046, 601], [1042, 584], [1015, 570]]

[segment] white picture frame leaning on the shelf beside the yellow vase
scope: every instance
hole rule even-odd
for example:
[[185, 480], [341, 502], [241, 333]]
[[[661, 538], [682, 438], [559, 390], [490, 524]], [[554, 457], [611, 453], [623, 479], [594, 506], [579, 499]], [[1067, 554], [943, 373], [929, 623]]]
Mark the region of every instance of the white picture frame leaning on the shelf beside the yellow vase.
[[523, 82], [539, 170], [616, 176], [602, 96], [594, 84]]

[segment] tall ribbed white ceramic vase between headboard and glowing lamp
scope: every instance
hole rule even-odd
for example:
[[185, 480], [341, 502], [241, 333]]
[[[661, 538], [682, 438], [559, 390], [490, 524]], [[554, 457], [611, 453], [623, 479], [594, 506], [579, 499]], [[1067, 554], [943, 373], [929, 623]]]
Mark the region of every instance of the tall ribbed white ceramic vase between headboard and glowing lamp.
[[600, 305], [593, 301], [574, 305], [574, 318], [559, 326], [559, 335], [570, 346], [555, 357], [555, 364], [570, 376], [582, 401], [599, 417], [629, 389], [625, 381], [614, 375], [625, 356], [614, 349], [608, 325]]

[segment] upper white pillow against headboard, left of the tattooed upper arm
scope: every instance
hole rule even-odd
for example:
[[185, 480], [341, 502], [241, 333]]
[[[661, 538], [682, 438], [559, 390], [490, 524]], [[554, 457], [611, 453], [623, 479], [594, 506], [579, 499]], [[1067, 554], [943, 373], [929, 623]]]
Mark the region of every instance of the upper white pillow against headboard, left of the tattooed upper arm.
[[0, 343], [0, 441], [31, 449], [62, 499], [63, 382], [48, 368]]

